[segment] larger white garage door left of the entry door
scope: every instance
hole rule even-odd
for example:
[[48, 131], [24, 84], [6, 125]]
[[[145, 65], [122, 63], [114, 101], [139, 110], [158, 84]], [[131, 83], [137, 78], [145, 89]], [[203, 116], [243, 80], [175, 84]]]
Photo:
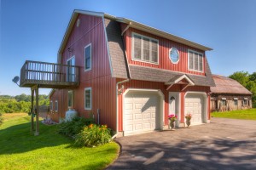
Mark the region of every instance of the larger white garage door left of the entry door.
[[125, 95], [125, 135], [153, 131], [160, 113], [158, 94], [129, 92]]

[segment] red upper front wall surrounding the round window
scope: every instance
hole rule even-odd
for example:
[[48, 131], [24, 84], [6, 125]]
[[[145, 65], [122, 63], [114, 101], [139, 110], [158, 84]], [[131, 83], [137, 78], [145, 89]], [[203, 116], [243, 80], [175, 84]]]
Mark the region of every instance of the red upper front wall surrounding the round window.
[[[121, 28], [125, 29], [125, 25], [122, 25]], [[159, 64], [158, 65], [132, 60], [131, 58], [131, 33], [132, 32], [136, 32], [143, 36], [152, 37], [154, 39], [159, 40]], [[205, 55], [205, 52], [199, 49], [190, 48], [189, 46], [183, 45], [181, 43], [173, 42], [163, 37], [154, 36], [147, 32], [138, 31], [134, 28], [129, 28], [125, 32], [125, 47], [127, 51], [128, 62], [132, 65], [143, 65], [143, 66], [149, 66], [149, 67], [154, 67], [154, 68], [159, 68], [159, 69], [164, 69], [169, 71], [179, 71], [179, 72], [185, 72], [185, 73], [195, 74], [195, 75], [205, 75], [205, 72], [188, 70], [188, 49], [195, 50]], [[177, 64], [172, 64], [171, 60], [169, 59], [169, 50], [173, 47], [177, 48], [179, 52], [180, 59]], [[203, 62], [205, 63], [205, 57], [203, 58]], [[203, 65], [203, 68], [204, 68], [203, 70], [205, 71], [205, 65]]]

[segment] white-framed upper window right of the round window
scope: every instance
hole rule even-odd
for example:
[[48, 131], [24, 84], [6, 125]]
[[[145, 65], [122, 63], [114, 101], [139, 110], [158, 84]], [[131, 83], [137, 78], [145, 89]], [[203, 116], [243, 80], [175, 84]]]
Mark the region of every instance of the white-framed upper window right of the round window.
[[203, 71], [203, 54], [190, 49], [188, 51], [188, 54], [189, 54], [189, 62], [188, 62], [189, 71], [202, 72]]

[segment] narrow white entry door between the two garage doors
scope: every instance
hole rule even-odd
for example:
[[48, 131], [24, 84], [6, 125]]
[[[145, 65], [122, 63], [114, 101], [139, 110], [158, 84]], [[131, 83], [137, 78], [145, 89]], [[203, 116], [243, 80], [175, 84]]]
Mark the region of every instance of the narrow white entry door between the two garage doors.
[[169, 93], [169, 114], [177, 116], [176, 126], [179, 127], [179, 95], [178, 93]]

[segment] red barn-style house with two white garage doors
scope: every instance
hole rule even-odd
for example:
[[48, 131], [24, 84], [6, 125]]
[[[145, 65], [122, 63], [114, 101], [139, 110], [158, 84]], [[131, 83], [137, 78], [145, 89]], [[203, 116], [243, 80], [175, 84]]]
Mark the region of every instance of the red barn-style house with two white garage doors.
[[[207, 123], [210, 87], [215, 86], [209, 50], [133, 20], [74, 10], [58, 64], [45, 78], [49, 83], [40, 87], [54, 88], [50, 104], [55, 122], [73, 108], [120, 135], [162, 130], [170, 114], [177, 115], [177, 127], [184, 126], [188, 113], [191, 125]], [[26, 65], [24, 74], [29, 72]], [[29, 87], [32, 81], [23, 79]]]

